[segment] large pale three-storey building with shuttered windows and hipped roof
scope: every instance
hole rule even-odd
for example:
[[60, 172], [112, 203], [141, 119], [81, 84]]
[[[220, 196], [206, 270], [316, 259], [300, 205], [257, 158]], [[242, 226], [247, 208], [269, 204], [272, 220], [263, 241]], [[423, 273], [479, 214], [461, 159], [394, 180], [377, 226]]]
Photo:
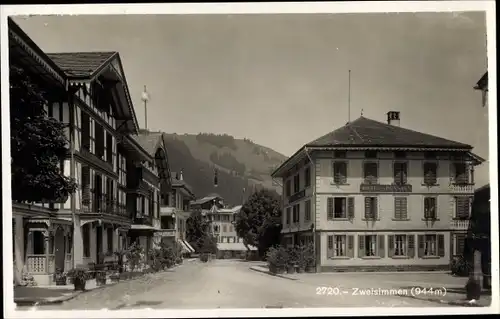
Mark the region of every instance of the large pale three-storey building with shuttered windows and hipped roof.
[[278, 167], [283, 242], [314, 242], [317, 271], [448, 269], [474, 195], [470, 145], [360, 117]]

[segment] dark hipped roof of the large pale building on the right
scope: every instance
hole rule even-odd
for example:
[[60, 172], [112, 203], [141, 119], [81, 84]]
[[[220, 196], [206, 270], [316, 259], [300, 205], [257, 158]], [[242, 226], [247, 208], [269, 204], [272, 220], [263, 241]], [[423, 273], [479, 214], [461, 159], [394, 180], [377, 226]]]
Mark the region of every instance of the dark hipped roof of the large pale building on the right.
[[321, 146], [441, 147], [472, 149], [472, 146], [441, 137], [359, 117], [308, 144]]

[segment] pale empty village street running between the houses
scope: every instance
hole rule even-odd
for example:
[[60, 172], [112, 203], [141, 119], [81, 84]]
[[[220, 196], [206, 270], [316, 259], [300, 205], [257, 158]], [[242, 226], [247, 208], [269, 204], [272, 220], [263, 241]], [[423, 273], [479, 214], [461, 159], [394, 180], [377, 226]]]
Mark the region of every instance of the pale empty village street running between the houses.
[[[254, 263], [215, 260], [186, 263], [173, 271], [150, 274], [79, 295], [40, 310], [302, 308], [302, 307], [440, 307], [408, 296], [353, 295], [354, 288], [462, 285], [448, 274], [303, 274], [289, 280], [250, 269]], [[427, 279], [426, 279], [427, 278]], [[441, 279], [439, 279], [441, 278]], [[339, 287], [343, 294], [320, 294], [318, 287]], [[411, 296], [410, 296], [411, 297]], [[27, 309], [25, 307], [19, 308]]]

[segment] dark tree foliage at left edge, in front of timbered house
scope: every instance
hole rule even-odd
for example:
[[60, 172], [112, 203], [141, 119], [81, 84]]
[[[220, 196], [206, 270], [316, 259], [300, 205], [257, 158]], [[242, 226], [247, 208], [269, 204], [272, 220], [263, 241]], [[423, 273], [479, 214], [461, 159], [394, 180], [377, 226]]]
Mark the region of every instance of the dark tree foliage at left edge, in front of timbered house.
[[65, 124], [47, 116], [46, 103], [47, 91], [11, 65], [12, 199], [18, 202], [57, 202], [76, 189], [60, 169], [68, 151]]

